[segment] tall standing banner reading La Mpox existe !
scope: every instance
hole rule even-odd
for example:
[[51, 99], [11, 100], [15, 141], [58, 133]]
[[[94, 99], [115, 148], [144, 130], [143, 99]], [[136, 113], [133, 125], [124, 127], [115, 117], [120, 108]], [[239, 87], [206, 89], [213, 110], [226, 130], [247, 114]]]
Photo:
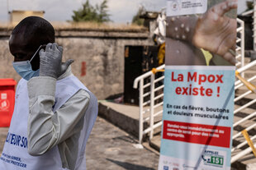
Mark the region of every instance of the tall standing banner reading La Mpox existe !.
[[[235, 66], [191, 40], [196, 27], [191, 21], [211, 17], [207, 13], [211, 7], [223, 9], [225, 4], [230, 3], [168, 0], [159, 170], [230, 169]], [[231, 5], [228, 19], [232, 22], [236, 11]], [[235, 31], [236, 27], [230, 29]], [[214, 45], [211, 36], [206, 39]]]

